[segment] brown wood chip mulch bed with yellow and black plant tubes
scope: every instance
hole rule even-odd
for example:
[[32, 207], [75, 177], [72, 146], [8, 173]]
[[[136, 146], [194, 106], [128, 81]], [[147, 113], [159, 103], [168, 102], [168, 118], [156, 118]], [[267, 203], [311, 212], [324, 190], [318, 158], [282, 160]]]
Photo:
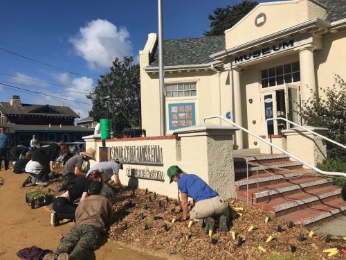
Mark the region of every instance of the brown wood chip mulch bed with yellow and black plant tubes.
[[[57, 177], [48, 187], [29, 189], [44, 189], [57, 196], [60, 195], [57, 193], [60, 184], [61, 181]], [[182, 215], [178, 200], [170, 198], [167, 202], [166, 197], [161, 195], [154, 198], [154, 193], [150, 191], [145, 194], [143, 189], [126, 189], [122, 194], [112, 198], [112, 201], [118, 220], [109, 230], [109, 239], [134, 245], [149, 254], [161, 250], [176, 258], [198, 260], [268, 259], [277, 254], [291, 256], [293, 259], [346, 259], [346, 254], [340, 250], [333, 257], [328, 257], [328, 253], [322, 252], [327, 248], [345, 247], [345, 240], [331, 237], [331, 241], [326, 243], [325, 234], [315, 233], [309, 237], [310, 231], [306, 227], [294, 225], [289, 228], [288, 223], [280, 218], [270, 218], [268, 223], [265, 223], [264, 220], [269, 215], [262, 209], [246, 205], [242, 200], [228, 200], [233, 215], [230, 229], [236, 233], [235, 240], [232, 239], [231, 232], [219, 232], [217, 225], [215, 234], [210, 239], [197, 222], [194, 222], [191, 228], [188, 228], [188, 221], [172, 223], [173, 217], [178, 219]], [[165, 207], [165, 211], [162, 206]], [[235, 211], [235, 208], [243, 210]], [[144, 219], [141, 219], [142, 214]], [[165, 231], [164, 225], [167, 225], [168, 231]], [[248, 232], [251, 225], [255, 228]], [[278, 232], [279, 225], [282, 232]], [[298, 241], [300, 234], [305, 238], [302, 242]], [[266, 243], [269, 235], [274, 239]], [[244, 242], [238, 246], [239, 237], [242, 237]], [[266, 252], [258, 249], [259, 245]], [[294, 253], [291, 252], [291, 245], [296, 247]]]

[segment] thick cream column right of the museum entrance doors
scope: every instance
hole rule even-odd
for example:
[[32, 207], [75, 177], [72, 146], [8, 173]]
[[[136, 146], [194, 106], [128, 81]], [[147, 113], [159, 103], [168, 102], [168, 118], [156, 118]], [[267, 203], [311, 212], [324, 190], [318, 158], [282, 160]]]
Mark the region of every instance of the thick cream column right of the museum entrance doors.
[[[299, 50], [300, 60], [300, 95], [307, 101], [316, 92], [315, 65], [313, 63], [313, 47]], [[312, 92], [311, 92], [312, 90]]]

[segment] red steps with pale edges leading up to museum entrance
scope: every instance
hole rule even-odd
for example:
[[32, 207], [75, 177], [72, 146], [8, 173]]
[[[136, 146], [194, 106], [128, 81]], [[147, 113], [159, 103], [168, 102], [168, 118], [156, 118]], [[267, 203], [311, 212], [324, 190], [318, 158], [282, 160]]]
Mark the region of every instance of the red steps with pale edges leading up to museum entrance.
[[330, 179], [317, 177], [315, 171], [302, 168], [289, 156], [237, 153], [234, 159], [238, 198], [272, 216], [295, 224], [316, 225], [346, 215], [341, 188], [333, 186]]

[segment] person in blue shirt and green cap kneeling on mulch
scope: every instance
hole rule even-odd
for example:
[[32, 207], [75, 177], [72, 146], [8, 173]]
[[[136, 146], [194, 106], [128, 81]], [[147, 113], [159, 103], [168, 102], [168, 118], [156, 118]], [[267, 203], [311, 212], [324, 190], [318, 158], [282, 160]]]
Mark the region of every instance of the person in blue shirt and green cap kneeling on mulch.
[[[206, 182], [195, 174], [185, 173], [179, 166], [170, 166], [167, 170], [170, 177], [170, 183], [177, 182], [181, 192], [181, 207], [183, 216], [181, 221], [188, 219], [188, 206], [193, 205], [190, 211], [190, 218], [194, 220], [203, 220], [206, 223], [206, 231], [210, 225], [215, 224], [213, 216], [219, 216], [219, 226], [221, 231], [227, 231], [228, 203], [223, 200], [219, 194], [211, 189]], [[193, 201], [188, 202], [188, 198]]]

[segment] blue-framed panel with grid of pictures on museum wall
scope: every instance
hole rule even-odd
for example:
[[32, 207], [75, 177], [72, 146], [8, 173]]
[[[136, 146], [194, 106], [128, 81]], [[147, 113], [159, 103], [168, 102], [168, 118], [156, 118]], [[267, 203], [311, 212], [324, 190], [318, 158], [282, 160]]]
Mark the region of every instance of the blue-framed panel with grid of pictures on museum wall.
[[170, 130], [196, 125], [194, 103], [169, 104], [168, 116]]

